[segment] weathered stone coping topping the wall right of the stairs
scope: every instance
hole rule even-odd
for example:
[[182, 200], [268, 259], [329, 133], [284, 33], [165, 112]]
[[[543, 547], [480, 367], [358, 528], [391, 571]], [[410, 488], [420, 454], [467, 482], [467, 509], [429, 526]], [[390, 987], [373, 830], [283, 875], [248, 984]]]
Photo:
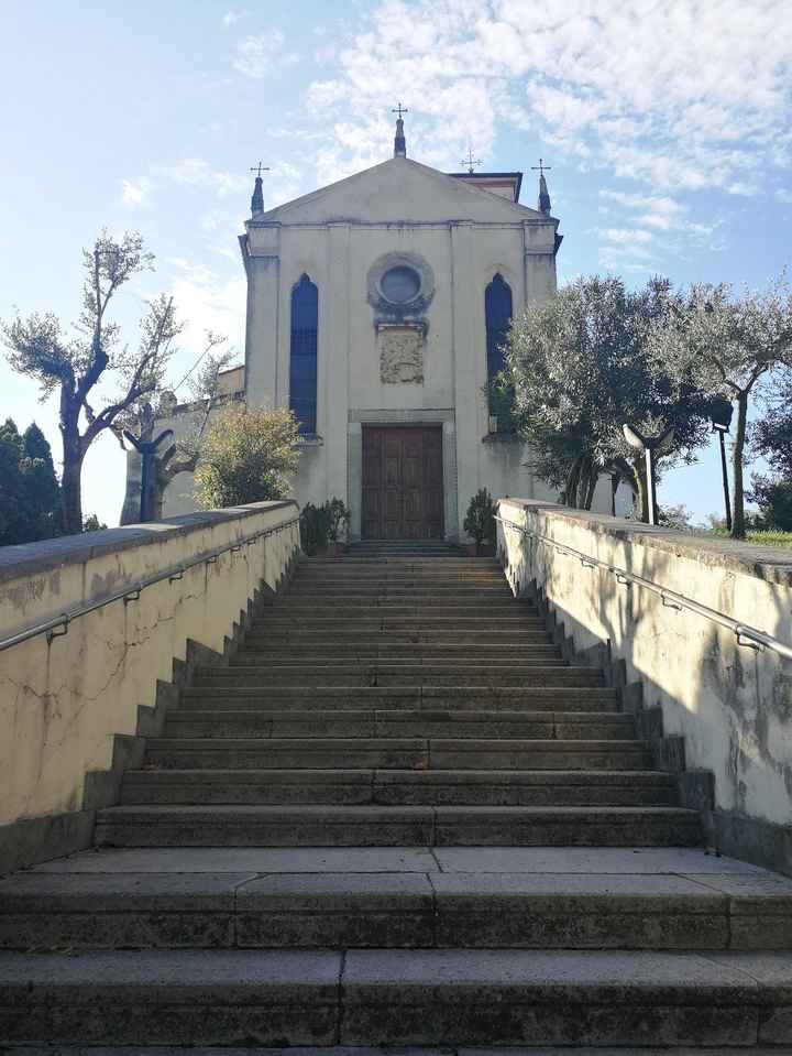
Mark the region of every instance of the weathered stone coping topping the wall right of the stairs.
[[[501, 507], [525, 510], [537, 516], [562, 518], [582, 524], [596, 535], [638, 546], [686, 557], [716, 568], [743, 576], [754, 576], [766, 583], [792, 587], [792, 548], [784, 551], [777, 546], [757, 546], [755, 543], [738, 543], [733, 540], [704, 538], [698, 535], [680, 532], [675, 529], [656, 527], [640, 521], [628, 521], [606, 513], [591, 513], [588, 510], [574, 510], [554, 502], [541, 502], [535, 499], [504, 498]], [[0, 554], [2, 551], [0, 551]], [[789, 555], [789, 556], [787, 556]]]

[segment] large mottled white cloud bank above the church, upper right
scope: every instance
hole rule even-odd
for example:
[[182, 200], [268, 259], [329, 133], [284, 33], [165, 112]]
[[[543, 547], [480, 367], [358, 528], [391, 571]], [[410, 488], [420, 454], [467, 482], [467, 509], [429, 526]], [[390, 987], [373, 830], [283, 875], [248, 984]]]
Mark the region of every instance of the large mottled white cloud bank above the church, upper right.
[[[756, 194], [792, 150], [789, 17], [789, 0], [381, 0], [308, 90], [327, 128], [320, 178], [387, 156], [384, 100], [400, 96], [408, 152], [439, 167], [469, 142], [486, 164], [519, 115], [559, 162], [656, 197]], [[660, 229], [662, 213], [647, 215]]]

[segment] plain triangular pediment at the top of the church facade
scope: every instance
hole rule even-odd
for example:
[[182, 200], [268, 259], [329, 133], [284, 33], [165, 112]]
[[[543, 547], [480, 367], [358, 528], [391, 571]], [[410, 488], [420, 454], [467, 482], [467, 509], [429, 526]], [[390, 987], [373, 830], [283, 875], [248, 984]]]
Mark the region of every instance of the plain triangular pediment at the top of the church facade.
[[[549, 218], [408, 157], [380, 165], [254, 216], [263, 224], [521, 222]], [[550, 222], [554, 222], [550, 220]]]

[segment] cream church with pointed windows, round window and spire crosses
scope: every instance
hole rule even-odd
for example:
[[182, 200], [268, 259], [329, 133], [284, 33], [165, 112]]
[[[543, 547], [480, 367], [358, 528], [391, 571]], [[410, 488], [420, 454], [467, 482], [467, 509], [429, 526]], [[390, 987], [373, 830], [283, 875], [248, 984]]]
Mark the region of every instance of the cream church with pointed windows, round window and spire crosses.
[[[243, 398], [293, 409], [295, 497], [343, 499], [353, 538], [461, 537], [483, 487], [554, 498], [486, 394], [512, 316], [556, 291], [559, 221], [543, 174], [537, 209], [521, 179], [411, 160], [400, 117], [373, 168], [271, 210], [256, 178]], [[189, 486], [175, 479], [166, 514], [190, 509]]]

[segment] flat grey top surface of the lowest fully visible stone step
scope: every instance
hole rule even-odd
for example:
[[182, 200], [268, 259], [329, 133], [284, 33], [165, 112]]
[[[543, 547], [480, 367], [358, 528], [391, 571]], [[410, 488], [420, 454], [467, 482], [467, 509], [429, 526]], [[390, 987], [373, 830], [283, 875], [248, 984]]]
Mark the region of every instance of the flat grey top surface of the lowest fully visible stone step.
[[[211, 971], [208, 971], [211, 966]], [[334, 993], [340, 954], [327, 950], [90, 950], [69, 954], [0, 952], [0, 992], [25, 993], [46, 1003], [63, 988], [70, 1000], [94, 1003], [102, 990], [128, 997], [187, 989], [217, 995], [232, 987], [241, 1000], [266, 990], [316, 989]], [[208, 976], [211, 975], [211, 980]], [[789, 998], [792, 954], [591, 951], [591, 950], [349, 950], [342, 986], [448, 990], [460, 984], [487, 991], [536, 988], [562, 994], [600, 994], [622, 1003], [627, 995], [662, 991], [673, 1000], [710, 1004], [718, 994], [761, 1004], [768, 994]], [[785, 1003], [785, 1002], [784, 1002]]]

